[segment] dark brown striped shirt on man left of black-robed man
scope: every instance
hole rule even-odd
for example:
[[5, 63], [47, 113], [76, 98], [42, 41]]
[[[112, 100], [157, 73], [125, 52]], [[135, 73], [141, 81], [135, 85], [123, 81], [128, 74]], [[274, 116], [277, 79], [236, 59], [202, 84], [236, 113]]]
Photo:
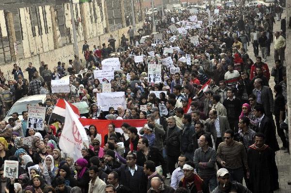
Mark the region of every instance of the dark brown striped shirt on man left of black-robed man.
[[242, 164], [248, 169], [246, 151], [242, 143], [237, 141], [233, 141], [230, 145], [226, 142], [220, 143], [216, 152], [216, 161], [219, 163], [225, 161], [226, 169], [238, 169], [242, 167]]

